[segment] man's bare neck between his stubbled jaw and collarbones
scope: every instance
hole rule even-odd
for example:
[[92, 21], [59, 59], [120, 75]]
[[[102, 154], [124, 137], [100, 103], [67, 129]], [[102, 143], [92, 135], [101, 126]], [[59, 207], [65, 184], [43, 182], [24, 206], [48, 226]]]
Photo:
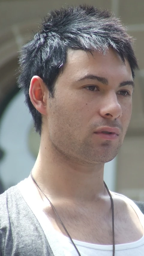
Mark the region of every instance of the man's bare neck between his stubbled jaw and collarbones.
[[70, 161], [55, 148], [42, 143], [32, 174], [51, 200], [92, 202], [107, 195], [104, 164]]

